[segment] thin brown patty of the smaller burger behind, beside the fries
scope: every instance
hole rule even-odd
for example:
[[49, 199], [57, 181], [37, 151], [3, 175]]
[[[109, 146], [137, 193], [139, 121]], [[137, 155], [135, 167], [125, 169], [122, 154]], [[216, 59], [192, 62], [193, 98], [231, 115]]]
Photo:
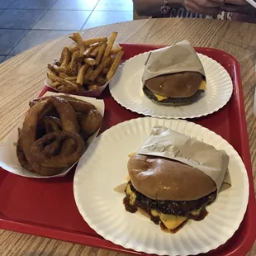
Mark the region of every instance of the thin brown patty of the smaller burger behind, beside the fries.
[[198, 90], [194, 95], [191, 97], [168, 97], [163, 101], [160, 101], [155, 97], [154, 93], [149, 90], [146, 86], [143, 88], [143, 92], [150, 100], [157, 102], [162, 105], [169, 105], [169, 106], [183, 106], [195, 102], [197, 98], [201, 95], [203, 90]]

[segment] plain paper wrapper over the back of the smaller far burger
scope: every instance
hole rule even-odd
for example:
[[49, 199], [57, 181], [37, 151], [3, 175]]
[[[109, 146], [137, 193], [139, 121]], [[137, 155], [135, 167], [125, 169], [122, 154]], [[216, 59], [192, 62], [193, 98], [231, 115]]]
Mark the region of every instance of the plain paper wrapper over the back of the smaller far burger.
[[151, 51], [145, 62], [142, 83], [144, 86], [145, 81], [150, 78], [158, 77], [161, 74], [184, 71], [199, 72], [206, 77], [195, 49], [187, 40]]

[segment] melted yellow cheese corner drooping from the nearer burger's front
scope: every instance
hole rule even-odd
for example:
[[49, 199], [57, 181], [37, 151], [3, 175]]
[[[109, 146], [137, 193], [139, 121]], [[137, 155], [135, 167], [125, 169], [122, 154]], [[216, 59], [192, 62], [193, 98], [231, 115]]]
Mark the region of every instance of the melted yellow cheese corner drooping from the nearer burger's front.
[[151, 210], [151, 214], [155, 217], [159, 216], [160, 220], [164, 223], [168, 230], [175, 230], [179, 225], [181, 225], [185, 220], [187, 220], [187, 217], [184, 216], [164, 214], [156, 210]]

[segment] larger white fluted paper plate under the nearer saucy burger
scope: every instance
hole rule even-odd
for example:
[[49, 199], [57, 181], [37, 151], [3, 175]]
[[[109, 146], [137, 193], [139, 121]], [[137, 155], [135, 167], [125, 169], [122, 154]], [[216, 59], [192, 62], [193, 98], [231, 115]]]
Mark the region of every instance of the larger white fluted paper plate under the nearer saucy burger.
[[[140, 213], [127, 212], [124, 194], [113, 190], [126, 182], [128, 154], [140, 148], [155, 125], [203, 140], [230, 155], [232, 187], [207, 207], [204, 220], [189, 220], [176, 234], [163, 232]], [[243, 220], [249, 182], [239, 154], [211, 130], [183, 120], [144, 117], [113, 126], [94, 141], [78, 163], [73, 191], [83, 219], [105, 239], [148, 254], [187, 255], [206, 253], [230, 239]]]

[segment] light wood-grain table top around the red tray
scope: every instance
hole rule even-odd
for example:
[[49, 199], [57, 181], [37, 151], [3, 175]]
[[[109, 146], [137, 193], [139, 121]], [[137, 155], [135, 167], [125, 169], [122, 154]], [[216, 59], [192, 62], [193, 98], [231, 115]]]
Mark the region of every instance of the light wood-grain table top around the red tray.
[[[256, 120], [253, 114], [256, 85], [256, 24], [205, 19], [149, 19], [101, 26], [83, 31], [83, 38], [110, 36], [117, 41], [172, 45], [187, 39], [192, 45], [224, 50], [238, 59], [244, 86], [249, 145], [256, 183]], [[0, 65], [0, 145], [27, 109], [27, 103], [43, 88], [46, 64], [70, 44], [68, 36], [27, 50]], [[103, 249], [0, 230], [3, 255], [104, 255], [124, 256]], [[249, 251], [256, 255], [256, 244]]]

